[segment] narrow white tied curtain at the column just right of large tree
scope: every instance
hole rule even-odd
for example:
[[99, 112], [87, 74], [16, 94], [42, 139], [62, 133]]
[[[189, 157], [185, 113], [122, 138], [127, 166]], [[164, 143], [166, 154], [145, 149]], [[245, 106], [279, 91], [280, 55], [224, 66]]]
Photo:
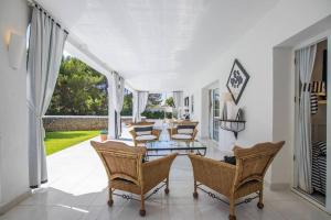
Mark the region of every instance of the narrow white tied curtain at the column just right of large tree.
[[120, 111], [122, 109], [122, 102], [124, 102], [124, 92], [125, 92], [125, 79], [120, 77], [116, 72], [113, 72], [113, 105], [115, 107], [115, 135], [116, 138], [120, 136], [121, 133], [121, 127], [120, 127]]

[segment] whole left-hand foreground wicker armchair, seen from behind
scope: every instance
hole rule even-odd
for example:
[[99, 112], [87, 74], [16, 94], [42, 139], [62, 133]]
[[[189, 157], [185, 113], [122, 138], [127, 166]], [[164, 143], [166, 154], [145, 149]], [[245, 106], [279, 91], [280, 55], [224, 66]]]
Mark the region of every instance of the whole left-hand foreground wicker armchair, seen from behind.
[[114, 204], [113, 191], [129, 191], [140, 195], [140, 216], [145, 216], [145, 195], [148, 191], [166, 182], [164, 191], [169, 194], [169, 172], [177, 154], [143, 163], [146, 147], [132, 147], [114, 141], [92, 141], [90, 144], [98, 153], [108, 175], [109, 206]]

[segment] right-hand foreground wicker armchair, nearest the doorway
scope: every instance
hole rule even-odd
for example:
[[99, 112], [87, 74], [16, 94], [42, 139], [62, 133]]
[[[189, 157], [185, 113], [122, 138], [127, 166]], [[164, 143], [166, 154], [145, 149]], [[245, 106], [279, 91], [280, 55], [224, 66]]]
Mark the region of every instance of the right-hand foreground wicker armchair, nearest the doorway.
[[267, 168], [285, 142], [260, 143], [250, 148], [233, 148], [236, 165], [190, 154], [194, 173], [194, 193], [197, 198], [197, 182], [224, 195], [229, 200], [229, 220], [235, 220], [235, 201], [258, 193], [259, 209], [264, 208], [263, 189]]

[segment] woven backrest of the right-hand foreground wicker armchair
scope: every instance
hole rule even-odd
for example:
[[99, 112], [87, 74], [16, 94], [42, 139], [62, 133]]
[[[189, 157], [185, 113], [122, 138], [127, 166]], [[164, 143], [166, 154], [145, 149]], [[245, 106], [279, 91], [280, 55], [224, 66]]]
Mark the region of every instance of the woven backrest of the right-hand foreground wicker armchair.
[[264, 176], [285, 142], [260, 143], [250, 148], [235, 146], [236, 177], [234, 186], [239, 187], [250, 180], [263, 182]]

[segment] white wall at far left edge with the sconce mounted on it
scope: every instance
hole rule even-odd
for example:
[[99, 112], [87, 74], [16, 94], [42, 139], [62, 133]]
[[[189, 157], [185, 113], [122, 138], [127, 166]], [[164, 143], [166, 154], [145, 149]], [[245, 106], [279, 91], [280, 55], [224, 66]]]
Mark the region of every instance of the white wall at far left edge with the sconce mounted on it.
[[9, 33], [25, 36], [30, 12], [25, 0], [0, 1], [0, 211], [30, 191], [25, 64], [13, 70], [8, 62]]

